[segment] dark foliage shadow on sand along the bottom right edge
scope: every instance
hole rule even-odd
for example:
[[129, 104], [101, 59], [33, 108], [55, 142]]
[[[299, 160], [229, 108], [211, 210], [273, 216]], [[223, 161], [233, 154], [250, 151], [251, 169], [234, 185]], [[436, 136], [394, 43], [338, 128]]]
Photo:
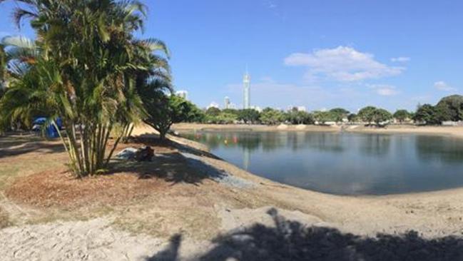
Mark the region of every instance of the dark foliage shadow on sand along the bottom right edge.
[[[213, 240], [215, 247], [195, 260], [250, 261], [434, 261], [463, 260], [462, 237], [425, 239], [417, 232], [360, 237], [330, 227], [307, 227], [285, 220], [277, 210], [268, 211], [275, 227], [255, 224]], [[178, 260], [181, 237], [175, 235], [166, 250], [147, 261]]]

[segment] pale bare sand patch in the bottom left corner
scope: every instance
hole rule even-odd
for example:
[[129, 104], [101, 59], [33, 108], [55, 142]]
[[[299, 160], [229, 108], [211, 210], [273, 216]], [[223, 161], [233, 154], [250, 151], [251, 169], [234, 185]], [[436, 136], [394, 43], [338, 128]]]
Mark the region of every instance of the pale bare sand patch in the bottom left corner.
[[114, 230], [110, 220], [56, 222], [0, 230], [1, 260], [145, 260], [162, 240]]

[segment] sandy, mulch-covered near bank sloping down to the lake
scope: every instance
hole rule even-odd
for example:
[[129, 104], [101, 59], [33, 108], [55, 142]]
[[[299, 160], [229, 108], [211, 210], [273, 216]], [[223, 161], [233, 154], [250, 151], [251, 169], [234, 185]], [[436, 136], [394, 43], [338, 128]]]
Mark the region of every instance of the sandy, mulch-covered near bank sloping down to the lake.
[[[76, 180], [66, 171], [66, 154], [56, 141], [1, 137], [0, 256], [463, 260], [463, 189], [326, 195], [265, 180], [200, 145], [174, 139], [178, 143], [146, 137], [124, 144], [119, 150], [153, 146], [155, 160], [115, 161], [107, 175]], [[211, 169], [252, 185], [228, 183]]]

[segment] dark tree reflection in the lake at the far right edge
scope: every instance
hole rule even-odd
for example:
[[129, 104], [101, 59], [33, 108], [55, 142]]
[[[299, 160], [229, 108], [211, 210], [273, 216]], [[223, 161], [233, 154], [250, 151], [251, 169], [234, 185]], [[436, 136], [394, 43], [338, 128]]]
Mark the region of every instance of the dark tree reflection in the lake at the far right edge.
[[423, 161], [458, 163], [463, 161], [463, 143], [446, 137], [415, 137], [417, 156]]

